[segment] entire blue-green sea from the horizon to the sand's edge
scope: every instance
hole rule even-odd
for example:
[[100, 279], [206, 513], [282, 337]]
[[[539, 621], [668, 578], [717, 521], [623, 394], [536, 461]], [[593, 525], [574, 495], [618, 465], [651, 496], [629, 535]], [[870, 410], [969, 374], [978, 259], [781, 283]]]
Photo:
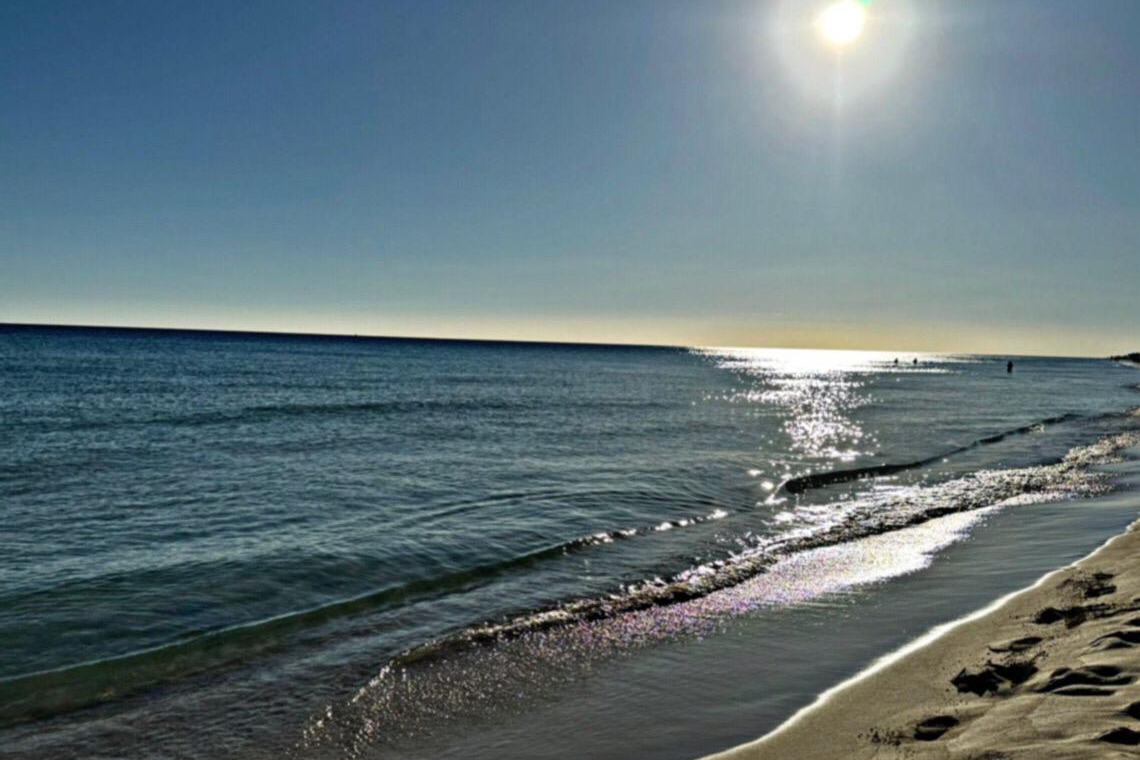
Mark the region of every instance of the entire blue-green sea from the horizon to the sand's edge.
[[1007, 359], [0, 327], [0, 757], [742, 741], [1133, 516]]

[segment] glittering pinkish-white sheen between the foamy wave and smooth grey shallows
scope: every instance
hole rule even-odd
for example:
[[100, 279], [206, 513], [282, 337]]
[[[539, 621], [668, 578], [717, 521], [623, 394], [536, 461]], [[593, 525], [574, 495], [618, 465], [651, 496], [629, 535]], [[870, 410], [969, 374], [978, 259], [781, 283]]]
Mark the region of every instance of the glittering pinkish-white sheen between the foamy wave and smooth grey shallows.
[[414, 741], [441, 720], [510, 713], [556, 693], [593, 663], [661, 641], [710, 636], [728, 619], [763, 607], [809, 602], [920, 570], [934, 551], [960, 539], [984, 514], [950, 515], [896, 533], [797, 554], [743, 583], [679, 604], [532, 631], [445, 660], [386, 667], [348, 703], [316, 716], [298, 749], [303, 753], [341, 746], [355, 755], [378, 743]]

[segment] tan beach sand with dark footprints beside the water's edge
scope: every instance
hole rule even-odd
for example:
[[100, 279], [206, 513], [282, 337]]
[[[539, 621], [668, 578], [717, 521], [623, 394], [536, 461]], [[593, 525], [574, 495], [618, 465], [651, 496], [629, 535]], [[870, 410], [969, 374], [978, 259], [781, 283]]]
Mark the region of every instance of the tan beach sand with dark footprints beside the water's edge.
[[1140, 522], [709, 760], [1140, 757]]

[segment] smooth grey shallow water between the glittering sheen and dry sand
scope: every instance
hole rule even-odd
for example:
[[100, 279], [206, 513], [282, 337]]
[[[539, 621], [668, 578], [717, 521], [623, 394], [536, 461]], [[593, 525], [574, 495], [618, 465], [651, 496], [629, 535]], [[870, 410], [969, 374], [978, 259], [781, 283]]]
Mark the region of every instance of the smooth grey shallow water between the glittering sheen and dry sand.
[[532, 711], [377, 757], [689, 760], [749, 742], [935, 624], [1086, 555], [1135, 520], [1140, 496], [1122, 496], [987, 515], [919, 572], [758, 610], [592, 670]]

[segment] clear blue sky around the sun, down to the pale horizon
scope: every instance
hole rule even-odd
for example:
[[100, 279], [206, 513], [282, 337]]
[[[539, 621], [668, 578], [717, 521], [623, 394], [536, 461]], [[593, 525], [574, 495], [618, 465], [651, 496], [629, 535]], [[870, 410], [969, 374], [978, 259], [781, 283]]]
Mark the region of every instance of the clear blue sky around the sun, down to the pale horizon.
[[0, 5], [0, 322], [1140, 349], [1140, 2]]

